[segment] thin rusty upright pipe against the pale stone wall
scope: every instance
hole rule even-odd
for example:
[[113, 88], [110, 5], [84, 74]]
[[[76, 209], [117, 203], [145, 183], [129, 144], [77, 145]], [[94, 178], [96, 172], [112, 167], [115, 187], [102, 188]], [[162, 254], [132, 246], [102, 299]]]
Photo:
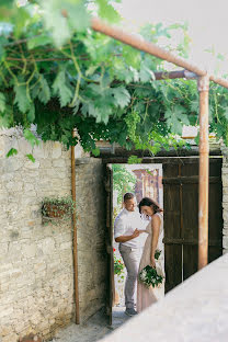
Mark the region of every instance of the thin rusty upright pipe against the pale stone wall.
[[[75, 137], [75, 130], [72, 130], [72, 138]], [[72, 201], [76, 203], [76, 156], [75, 146], [71, 146], [71, 193]], [[73, 225], [73, 274], [75, 274], [75, 301], [76, 301], [76, 324], [80, 323], [79, 319], [79, 288], [78, 288], [78, 246], [77, 246], [77, 223], [76, 210], [72, 214]]]

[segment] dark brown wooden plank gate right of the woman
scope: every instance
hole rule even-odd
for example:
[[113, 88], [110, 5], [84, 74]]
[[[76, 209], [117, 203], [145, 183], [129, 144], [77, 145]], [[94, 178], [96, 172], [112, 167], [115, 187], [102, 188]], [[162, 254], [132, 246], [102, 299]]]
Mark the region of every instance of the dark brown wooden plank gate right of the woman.
[[[223, 253], [221, 159], [209, 159], [208, 261]], [[198, 158], [163, 164], [166, 293], [197, 271]]]

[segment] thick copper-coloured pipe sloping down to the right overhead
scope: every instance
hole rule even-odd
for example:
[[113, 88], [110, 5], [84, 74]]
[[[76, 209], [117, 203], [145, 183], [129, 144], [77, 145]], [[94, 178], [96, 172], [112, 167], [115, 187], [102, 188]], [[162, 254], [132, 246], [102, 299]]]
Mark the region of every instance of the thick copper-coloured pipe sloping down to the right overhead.
[[[125, 33], [124, 31], [122, 31], [117, 27], [110, 26], [106, 23], [102, 22], [98, 18], [92, 19], [91, 27], [94, 31], [103, 33], [110, 37], [113, 37], [116, 41], [119, 41], [124, 44], [130, 45], [130, 46], [133, 46], [133, 47], [135, 47], [141, 52], [148, 53], [148, 54], [156, 56], [160, 59], [164, 59], [164, 60], [170, 61], [170, 62], [172, 62], [172, 64], [174, 64], [181, 68], [184, 68], [189, 71], [192, 71], [192, 72], [196, 73], [197, 76], [206, 76], [207, 75], [206, 70], [202, 70], [201, 68], [189, 62], [187, 60], [185, 60], [181, 57], [178, 57], [170, 52], [164, 50], [163, 48], [157, 46], [156, 44], [146, 42], [145, 39], [142, 39], [136, 35]], [[210, 76], [209, 79], [212, 81], [214, 81], [215, 83], [218, 83], [225, 88], [228, 88], [228, 81], [225, 79], [216, 78], [214, 76]]]

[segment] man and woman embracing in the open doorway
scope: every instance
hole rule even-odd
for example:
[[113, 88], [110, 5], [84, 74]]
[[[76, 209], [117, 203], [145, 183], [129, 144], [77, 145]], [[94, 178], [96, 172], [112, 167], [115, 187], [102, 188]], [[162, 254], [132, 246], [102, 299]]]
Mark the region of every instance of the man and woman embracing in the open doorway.
[[[146, 229], [139, 213], [150, 218]], [[119, 242], [119, 252], [127, 270], [125, 314], [128, 316], [137, 315], [163, 296], [162, 287], [153, 288], [150, 286], [148, 288], [138, 282], [139, 272], [147, 265], [162, 270], [162, 265], [155, 259], [156, 250], [162, 249], [162, 209], [153, 200], [144, 197], [139, 203], [139, 213], [135, 195], [126, 193], [124, 195], [124, 209], [117, 215], [114, 223], [114, 238], [116, 242]], [[144, 233], [147, 233], [146, 242], [145, 239], [140, 238]], [[141, 248], [142, 253], [139, 260], [138, 255]], [[135, 310], [136, 288], [137, 310]]]

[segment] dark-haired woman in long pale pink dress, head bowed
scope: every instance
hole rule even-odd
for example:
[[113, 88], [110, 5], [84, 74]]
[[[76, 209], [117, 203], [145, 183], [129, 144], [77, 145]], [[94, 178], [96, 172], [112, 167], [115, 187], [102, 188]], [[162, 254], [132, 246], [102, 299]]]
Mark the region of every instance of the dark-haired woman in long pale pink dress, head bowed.
[[[163, 215], [159, 205], [149, 197], [144, 197], [139, 203], [139, 212], [150, 218], [150, 221], [144, 230], [148, 233], [145, 242], [141, 260], [139, 264], [140, 271], [150, 265], [156, 267], [158, 274], [163, 275], [163, 265], [161, 260], [155, 259], [156, 250], [162, 250], [162, 231], [163, 231]], [[163, 282], [164, 283], [164, 282]], [[137, 284], [137, 312], [139, 314], [151, 304], [156, 303], [159, 298], [163, 297], [164, 289], [163, 283], [159, 287], [150, 286], [147, 288], [138, 281]]]

